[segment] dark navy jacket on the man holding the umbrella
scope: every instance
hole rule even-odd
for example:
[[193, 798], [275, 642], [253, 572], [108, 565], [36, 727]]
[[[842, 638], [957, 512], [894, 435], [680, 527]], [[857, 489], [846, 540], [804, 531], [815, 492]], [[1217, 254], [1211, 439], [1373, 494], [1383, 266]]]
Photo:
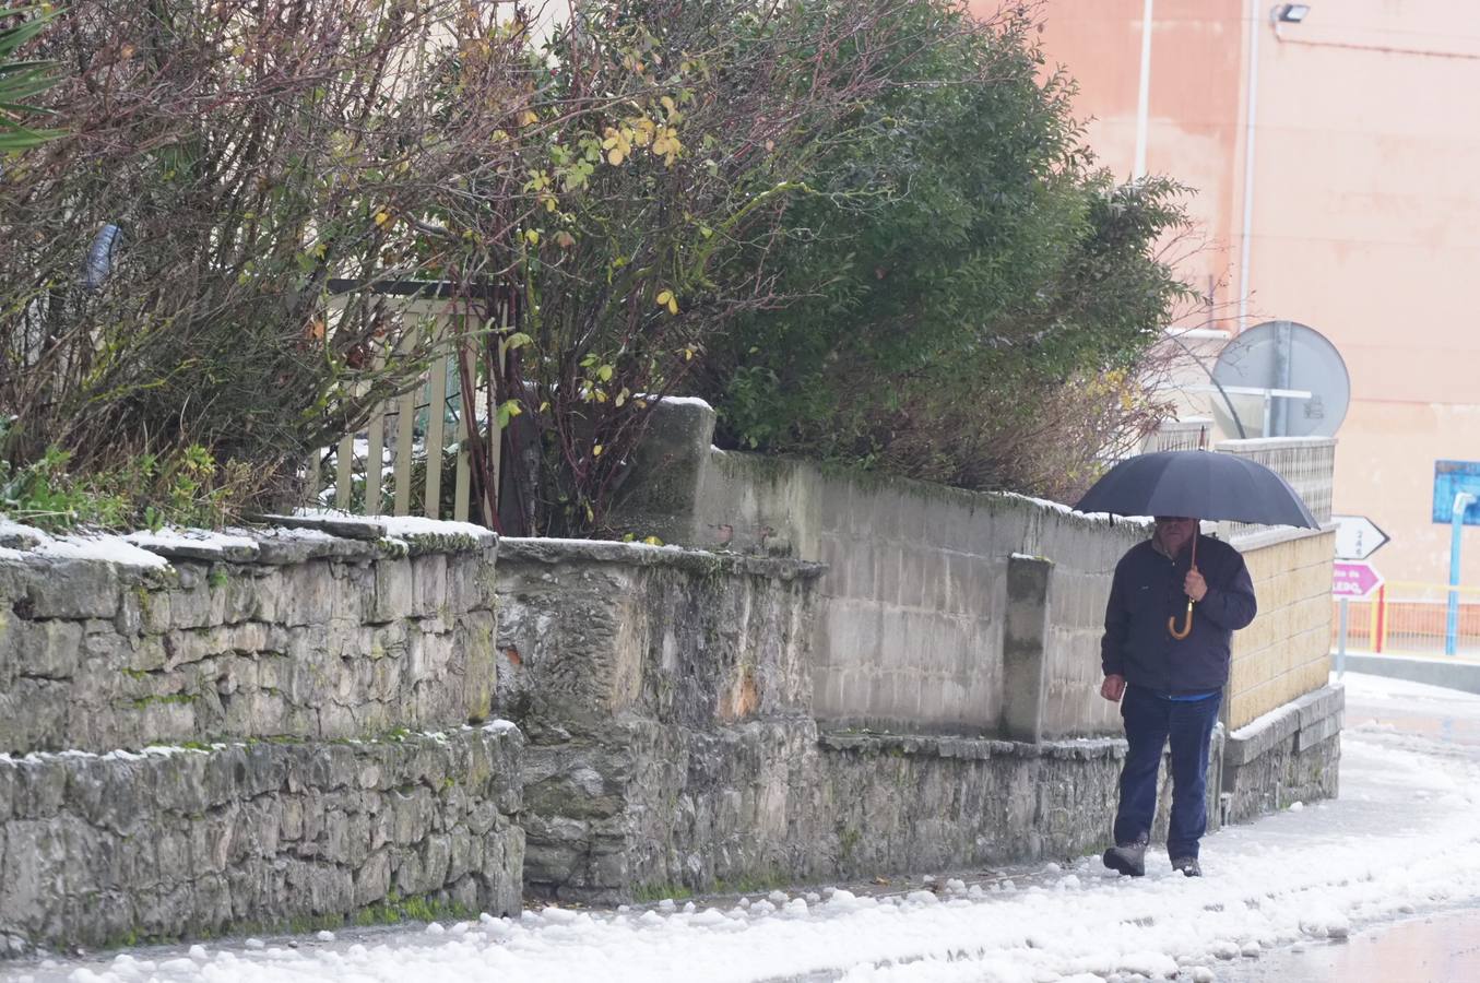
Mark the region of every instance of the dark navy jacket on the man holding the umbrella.
[[1114, 568], [1100, 662], [1106, 675], [1163, 694], [1211, 693], [1228, 681], [1233, 632], [1254, 620], [1254, 582], [1239, 551], [1208, 536], [1197, 537], [1197, 570], [1208, 594], [1193, 605], [1193, 631], [1178, 641], [1187, 617], [1190, 545], [1169, 560], [1151, 540], [1132, 546]]

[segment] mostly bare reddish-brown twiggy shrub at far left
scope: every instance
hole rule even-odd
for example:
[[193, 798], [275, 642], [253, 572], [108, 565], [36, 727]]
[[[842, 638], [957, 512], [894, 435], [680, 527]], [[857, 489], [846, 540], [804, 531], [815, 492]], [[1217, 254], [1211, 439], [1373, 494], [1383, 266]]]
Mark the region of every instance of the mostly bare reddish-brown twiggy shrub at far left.
[[514, 154], [490, 135], [528, 90], [530, 46], [496, 13], [71, 4], [36, 41], [67, 135], [0, 172], [4, 459], [169, 472], [198, 447], [250, 465], [250, 496], [411, 385], [426, 326], [332, 284], [462, 281], [468, 243], [428, 216], [499, 187]]

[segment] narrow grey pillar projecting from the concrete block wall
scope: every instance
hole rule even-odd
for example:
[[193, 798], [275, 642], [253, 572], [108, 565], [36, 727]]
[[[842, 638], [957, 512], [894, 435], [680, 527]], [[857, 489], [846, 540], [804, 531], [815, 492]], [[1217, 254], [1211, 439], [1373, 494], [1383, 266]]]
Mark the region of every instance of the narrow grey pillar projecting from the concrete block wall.
[[1008, 560], [1008, 605], [1002, 625], [1002, 733], [1039, 743], [1048, 691], [1048, 585], [1054, 563], [1042, 557]]

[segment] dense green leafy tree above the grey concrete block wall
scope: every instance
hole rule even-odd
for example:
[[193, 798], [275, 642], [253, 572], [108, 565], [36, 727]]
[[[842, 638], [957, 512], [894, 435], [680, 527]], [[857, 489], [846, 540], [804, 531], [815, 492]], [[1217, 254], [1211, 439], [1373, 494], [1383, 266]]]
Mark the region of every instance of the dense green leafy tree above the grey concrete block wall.
[[889, 84], [783, 216], [778, 290], [802, 299], [744, 318], [704, 392], [731, 446], [1063, 492], [1159, 415], [1132, 369], [1187, 296], [1157, 253], [1183, 189], [1095, 169], [1032, 10], [901, 19]]

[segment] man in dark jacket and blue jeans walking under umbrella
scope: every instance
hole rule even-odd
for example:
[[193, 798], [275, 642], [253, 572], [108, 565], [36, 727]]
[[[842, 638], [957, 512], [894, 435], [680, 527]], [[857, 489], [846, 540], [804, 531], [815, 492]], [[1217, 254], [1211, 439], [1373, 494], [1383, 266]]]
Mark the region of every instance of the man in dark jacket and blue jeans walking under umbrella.
[[1252, 622], [1255, 610], [1243, 557], [1202, 536], [1196, 518], [1157, 517], [1151, 539], [1132, 546], [1116, 564], [1100, 643], [1106, 675], [1100, 694], [1120, 700], [1131, 748], [1120, 770], [1116, 845], [1106, 850], [1107, 868], [1131, 876], [1146, 873], [1156, 773], [1169, 740], [1166, 851], [1174, 869], [1202, 876], [1197, 845], [1208, 829], [1208, 749], [1228, 681], [1233, 632]]

